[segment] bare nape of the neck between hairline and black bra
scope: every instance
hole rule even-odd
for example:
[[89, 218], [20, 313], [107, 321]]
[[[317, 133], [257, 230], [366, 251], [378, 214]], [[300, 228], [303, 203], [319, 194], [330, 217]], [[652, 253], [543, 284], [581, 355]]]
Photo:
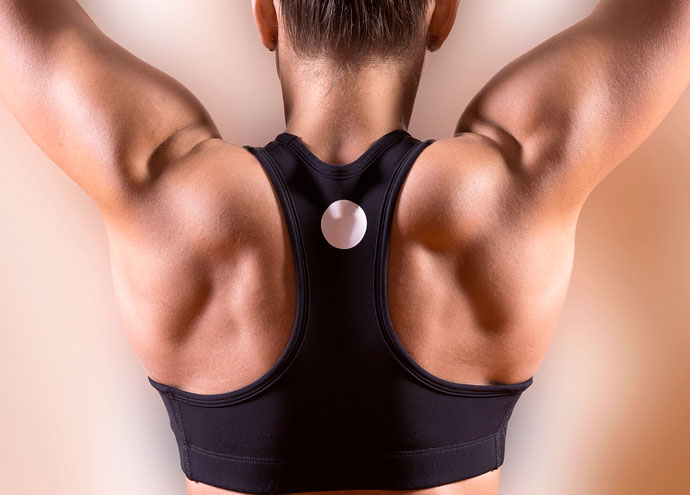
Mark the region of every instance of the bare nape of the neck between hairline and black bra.
[[286, 132], [322, 160], [349, 163], [377, 138], [410, 122], [424, 55], [339, 73], [317, 62], [281, 54]]

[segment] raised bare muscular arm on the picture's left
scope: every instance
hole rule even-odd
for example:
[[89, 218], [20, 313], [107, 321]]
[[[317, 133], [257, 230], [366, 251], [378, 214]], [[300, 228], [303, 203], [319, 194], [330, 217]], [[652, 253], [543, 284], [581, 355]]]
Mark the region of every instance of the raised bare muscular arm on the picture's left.
[[186, 88], [104, 35], [73, 0], [0, 0], [0, 97], [106, 215], [220, 137]]

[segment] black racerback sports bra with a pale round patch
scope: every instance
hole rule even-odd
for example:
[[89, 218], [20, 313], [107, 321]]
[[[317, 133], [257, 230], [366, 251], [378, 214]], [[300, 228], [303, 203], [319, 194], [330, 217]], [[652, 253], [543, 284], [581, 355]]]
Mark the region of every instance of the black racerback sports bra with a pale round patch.
[[418, 489], [503, 463], [506, 427], [532, 384], [464, 385], [423, 369], [392, 328], [391, 219], [405, 175], [434, 140], [397, 129], [333, 165], [293, 134], [244, 146], [287, 220], [297, 277], [287, 346], [238, 390], [157, 383], [190, 480], [252, 494]]

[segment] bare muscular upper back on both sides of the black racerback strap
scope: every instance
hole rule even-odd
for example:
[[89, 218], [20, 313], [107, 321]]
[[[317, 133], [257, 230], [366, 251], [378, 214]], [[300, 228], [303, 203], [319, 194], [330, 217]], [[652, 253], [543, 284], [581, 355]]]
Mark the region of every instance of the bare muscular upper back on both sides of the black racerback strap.
[[[394, 210], [389, 309], [406, 349], [461, 383], [534, 374], [572, 266], [575, 218], [545, 222], [500, 153], [467, 133], [410, 169]], [[259, 162], [213, 139], [163, 173], [137, 219], [108, 227], [123, 324], [147, 373], [198, 393], [244, 386], [295, 318], [287, 225]]]

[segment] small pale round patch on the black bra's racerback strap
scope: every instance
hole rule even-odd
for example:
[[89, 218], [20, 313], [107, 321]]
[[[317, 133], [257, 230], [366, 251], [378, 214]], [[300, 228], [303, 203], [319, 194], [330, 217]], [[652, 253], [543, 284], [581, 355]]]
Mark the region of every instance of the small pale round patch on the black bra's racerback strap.
[[355, 247], [366, 231], [367, 216], [364, 210], [350, 200], [333, 201], [321, 216], [323, 236], [338, 249]]

